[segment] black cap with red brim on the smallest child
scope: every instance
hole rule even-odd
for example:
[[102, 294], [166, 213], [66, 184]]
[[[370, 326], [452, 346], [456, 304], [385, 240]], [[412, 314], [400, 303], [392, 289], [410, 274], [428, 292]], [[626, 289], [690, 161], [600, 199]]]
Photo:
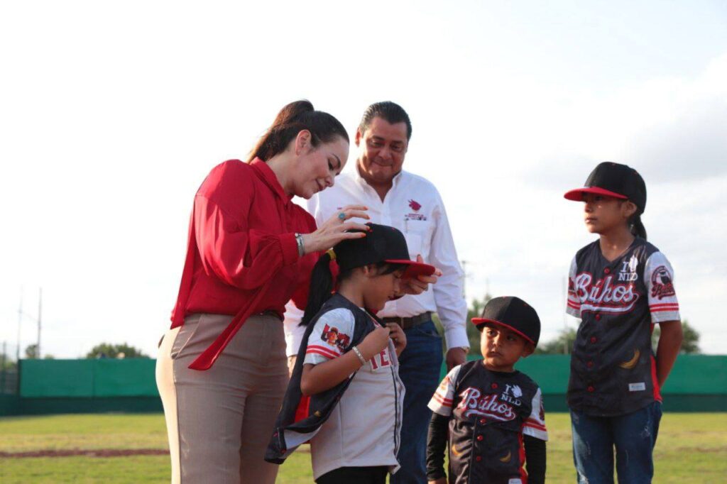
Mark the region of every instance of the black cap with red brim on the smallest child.
[[488, 324], [504, 326], [537, 346], [540, 339], [540, 318], [533, 307], [519, 297], [503, 296], [490, 299], [482, 310], [481, 318], [472, 323], [482, 331]]

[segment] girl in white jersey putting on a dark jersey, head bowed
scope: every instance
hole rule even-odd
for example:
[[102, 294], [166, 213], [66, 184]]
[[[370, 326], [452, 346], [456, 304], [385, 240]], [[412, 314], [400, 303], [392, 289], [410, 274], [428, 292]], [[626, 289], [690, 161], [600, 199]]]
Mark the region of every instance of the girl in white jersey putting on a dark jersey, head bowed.
[[[375, 314], [401, 296], [404, 280], [435, 267], [411, 261], [394, 227], [368, 225], [366, 237], [339, 243], [313, 268], [301, 322], [308, 328], [265, 455], [281, 464], [310, 440], [319, 484], [383, 484], [398, 469], [406, 336]], [[335, 291], [332, 259], [340, 270]]]

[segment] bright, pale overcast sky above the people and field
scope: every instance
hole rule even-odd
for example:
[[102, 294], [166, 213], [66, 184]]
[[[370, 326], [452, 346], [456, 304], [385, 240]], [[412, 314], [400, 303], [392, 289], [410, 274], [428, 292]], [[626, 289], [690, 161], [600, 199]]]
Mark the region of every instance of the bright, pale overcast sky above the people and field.
[[725, 2], [258, 3], [1, 4], [0, 344], [21, 291], [35, 341], [42, 286], [44, 354], [156, 355], [196, 188], [305, 97], [352, 136], [371, 102], [409, 112], [467, 298], [526, 299], [542, 341], [577, 323], [564, 278], [594, 239], [563, 193], [634, 166], [681, 315], [726, 351]]

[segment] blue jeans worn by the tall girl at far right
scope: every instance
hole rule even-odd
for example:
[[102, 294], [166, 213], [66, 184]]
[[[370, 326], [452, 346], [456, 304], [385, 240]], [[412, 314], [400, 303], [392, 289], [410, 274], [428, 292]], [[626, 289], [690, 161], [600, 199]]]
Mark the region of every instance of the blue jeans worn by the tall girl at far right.
[[631, 414], [612, 417], [571, 411], [577, 483], [612, 484], [614, 446], [619, 483], [651, 483], [654, 477], [652, 452], [661, 419], [662, 404], [659, 402]]

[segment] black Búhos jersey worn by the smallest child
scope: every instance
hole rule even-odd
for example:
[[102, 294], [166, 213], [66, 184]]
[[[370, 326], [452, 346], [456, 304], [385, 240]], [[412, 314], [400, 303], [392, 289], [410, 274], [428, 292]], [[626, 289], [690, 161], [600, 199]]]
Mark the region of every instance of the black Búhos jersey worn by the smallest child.
[[542, 393], [520, 371], [455, 366], [429, 402], [449, 419], [449, 482], [526, 484], [523, 434], [547, 440]]

